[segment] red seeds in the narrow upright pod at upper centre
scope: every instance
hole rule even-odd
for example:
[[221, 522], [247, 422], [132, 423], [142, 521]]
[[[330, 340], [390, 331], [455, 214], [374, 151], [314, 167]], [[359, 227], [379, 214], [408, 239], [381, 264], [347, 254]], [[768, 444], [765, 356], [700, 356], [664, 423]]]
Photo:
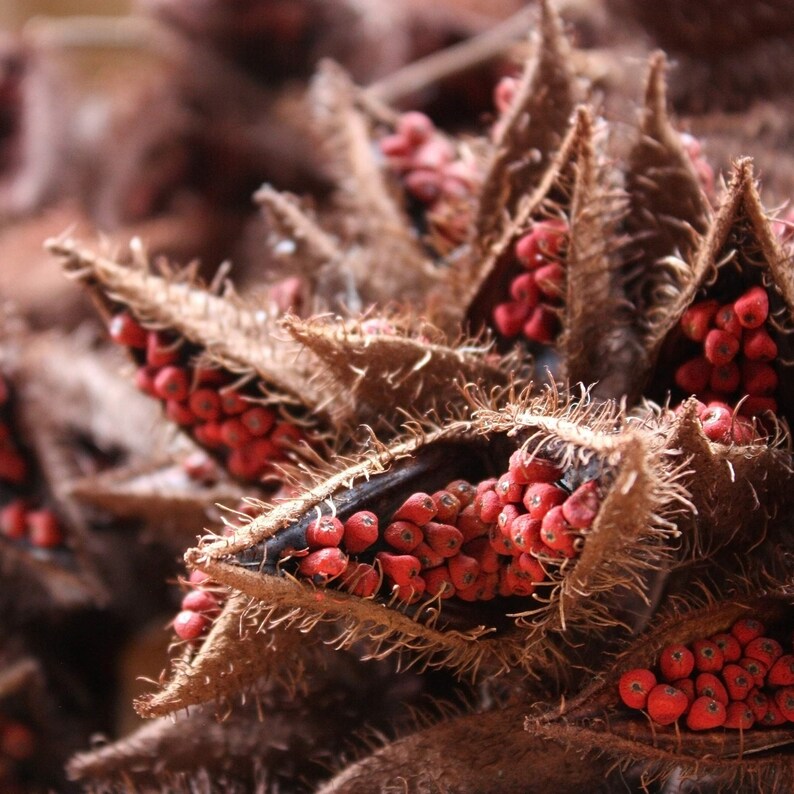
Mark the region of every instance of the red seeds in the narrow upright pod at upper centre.
[[502, 336], [521, 334], [544, 345], [554, 341], [560, 331], [567, 239], [567, 223], [554, 218], [535, 223], [518, 240], [514, 253], [526, 272], [510, 282], [510, 300], [494, 307], [493, 323]]

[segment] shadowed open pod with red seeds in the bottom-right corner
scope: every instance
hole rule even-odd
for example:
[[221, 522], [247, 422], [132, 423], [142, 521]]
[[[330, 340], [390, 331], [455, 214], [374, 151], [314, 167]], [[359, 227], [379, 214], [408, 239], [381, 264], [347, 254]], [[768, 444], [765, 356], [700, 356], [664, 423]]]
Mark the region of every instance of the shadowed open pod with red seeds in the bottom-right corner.
[[[790, 594], [771, 593], [669, 613], [581, 694], [528, 719], [527, 730], [562, 744], [589, 742], [621, 767], [641, 764], [646, 784], [679, 769], [685, 778], [708, 777], [715, 790], [781, 790], [794, 770], [794, 730], [776, 706], [790, 705], [776, 693], [794, 676], [792, 608]], [[763, 653], [780, 664], [761, 661]], [[668, 683], [652, 683], [648, 671]], [[648, 697], [630, 707], [622, 692], [637, 703]]]

